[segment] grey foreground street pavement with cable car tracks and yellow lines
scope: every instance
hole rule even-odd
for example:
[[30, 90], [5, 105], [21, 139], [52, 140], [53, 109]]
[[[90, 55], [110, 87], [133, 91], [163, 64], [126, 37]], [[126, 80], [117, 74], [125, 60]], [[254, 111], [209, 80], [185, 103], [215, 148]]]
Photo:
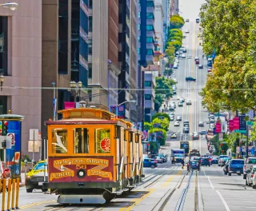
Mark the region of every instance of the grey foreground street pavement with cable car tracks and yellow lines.
[[[224, 175], [222, 167], [211, 165], [187, 173], [170, 161], [156, 169], [145, 169], [144, 183], [130, 194], [119, 196], [106, 205], [58, 205], [57, 197], [42, 191], [26, 193], [20, 189], [22, 210], [251, 210], [256, 205], [254, 189], [245, 188], [242, 176]], [[185, 191], [186, 190], [186, 191]], [[185, 193], [184, 193], [185, 192]], [[2, 197], [2, 195], [1, 195]], [[2, 198], [1, 198], [2, 200]], [[180, 207], [179, 209], [178, 206]], [[194, 209], [197, 206], [198, 209]]]

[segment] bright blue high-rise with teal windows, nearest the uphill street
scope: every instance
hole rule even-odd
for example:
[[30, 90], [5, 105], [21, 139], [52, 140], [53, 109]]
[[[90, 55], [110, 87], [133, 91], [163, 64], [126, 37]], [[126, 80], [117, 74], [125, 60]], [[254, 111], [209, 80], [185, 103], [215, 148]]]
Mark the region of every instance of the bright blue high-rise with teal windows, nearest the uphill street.
[[[150, 121], [154, 110], [154, 90], [145, 90], [148, 82], [154, 82], [154, 0], [141, 0], [138, 15], [138, 78], [141, 82], [138, 98], [141, 99], [141, 107], [138, 109], [138, 117], [143, 122]], [[140, 79], [141, 78], [141, 79]], [[152, 85], [154, 88], [154, 86]], [[149, 86], [147, 88], [150, 88]], [[139, 102], [139, 101], [138, 101]], [[151, 103], [153, 102], [153, 103]]]

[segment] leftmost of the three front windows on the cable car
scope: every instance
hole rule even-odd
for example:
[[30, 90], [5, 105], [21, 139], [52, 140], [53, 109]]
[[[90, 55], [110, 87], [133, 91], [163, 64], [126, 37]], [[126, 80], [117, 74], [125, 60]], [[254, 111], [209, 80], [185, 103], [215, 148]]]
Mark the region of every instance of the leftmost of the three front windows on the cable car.
[[67, 153], [67, 129], [52, 130], [52, 153]]

